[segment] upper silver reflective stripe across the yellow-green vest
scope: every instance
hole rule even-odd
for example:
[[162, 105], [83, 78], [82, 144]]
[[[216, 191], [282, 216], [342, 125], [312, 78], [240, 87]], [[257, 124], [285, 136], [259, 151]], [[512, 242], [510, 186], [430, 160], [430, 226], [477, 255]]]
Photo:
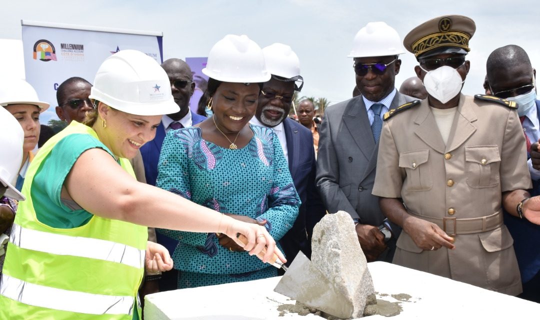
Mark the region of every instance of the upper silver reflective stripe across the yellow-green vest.
[[53, 234], [23, 228], [15, 223], [9, 240], [23, 249], [123, 263], [135, 268], [144, 267], [145, 250], [113, 241]]

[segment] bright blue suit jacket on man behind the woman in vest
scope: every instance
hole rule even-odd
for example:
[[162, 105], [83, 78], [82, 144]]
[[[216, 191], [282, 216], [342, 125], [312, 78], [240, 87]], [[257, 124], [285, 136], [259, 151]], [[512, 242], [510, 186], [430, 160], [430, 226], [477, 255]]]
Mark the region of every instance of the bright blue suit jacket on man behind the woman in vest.
[[[191, 119], [193, 125], [196, 125], [199, 122], [206, 120], [206, 117], [191, 112]], [[158, 178], [159, 153], [161, 152], [161, 145], [163, 145], [163, 140], [165, 139], [165, 133], [163, 122], [160, 122], [159, 127], [156, 129], [156, 138], [150, 142], [147, 142], [140, 148], [140, 153], [143, 156], [146, 183], [152, 186], [156, 185], [156, 179]]]

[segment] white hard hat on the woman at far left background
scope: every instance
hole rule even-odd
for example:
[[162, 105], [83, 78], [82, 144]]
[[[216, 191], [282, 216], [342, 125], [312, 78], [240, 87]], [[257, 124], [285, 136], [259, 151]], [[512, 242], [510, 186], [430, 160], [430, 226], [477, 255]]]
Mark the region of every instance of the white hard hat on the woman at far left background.
[[5, 107], [18, 104], [36, 105], [40, 109], [39, 112], [49, 108], [48, 103], [39, 101], [36, 90], [25, 80], [2, 79], [2, 84], [0, 84], [0, 105]]

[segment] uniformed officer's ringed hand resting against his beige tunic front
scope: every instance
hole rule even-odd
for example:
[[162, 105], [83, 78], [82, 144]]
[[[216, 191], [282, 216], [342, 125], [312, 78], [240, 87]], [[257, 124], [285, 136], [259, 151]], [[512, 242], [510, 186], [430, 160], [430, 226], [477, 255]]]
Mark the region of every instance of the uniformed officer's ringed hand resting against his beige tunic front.
[[454, 238], [447, 235], [435, 223], [414, 216], [408, 216], [403, 223], [403, 230], [413, 239], [416, 246], [423, 250], [437, 250], [442, 247], [455, 249]]

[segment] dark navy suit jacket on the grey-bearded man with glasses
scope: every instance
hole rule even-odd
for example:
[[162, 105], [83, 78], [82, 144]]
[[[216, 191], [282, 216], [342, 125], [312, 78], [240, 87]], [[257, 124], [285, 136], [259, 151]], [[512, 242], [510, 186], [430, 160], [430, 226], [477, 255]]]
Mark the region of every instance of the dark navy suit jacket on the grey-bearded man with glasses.
[[311, 131], [290, 118], [283, 121], [283, 126], [289, 171], [302, 201], [293, 227], [279, 241], [287, 256], [287, 264], [290, 264], [299, 250], [311, 256], [313, 227], [325, 215], [326, 210], [315, 186], [316, 161]]

